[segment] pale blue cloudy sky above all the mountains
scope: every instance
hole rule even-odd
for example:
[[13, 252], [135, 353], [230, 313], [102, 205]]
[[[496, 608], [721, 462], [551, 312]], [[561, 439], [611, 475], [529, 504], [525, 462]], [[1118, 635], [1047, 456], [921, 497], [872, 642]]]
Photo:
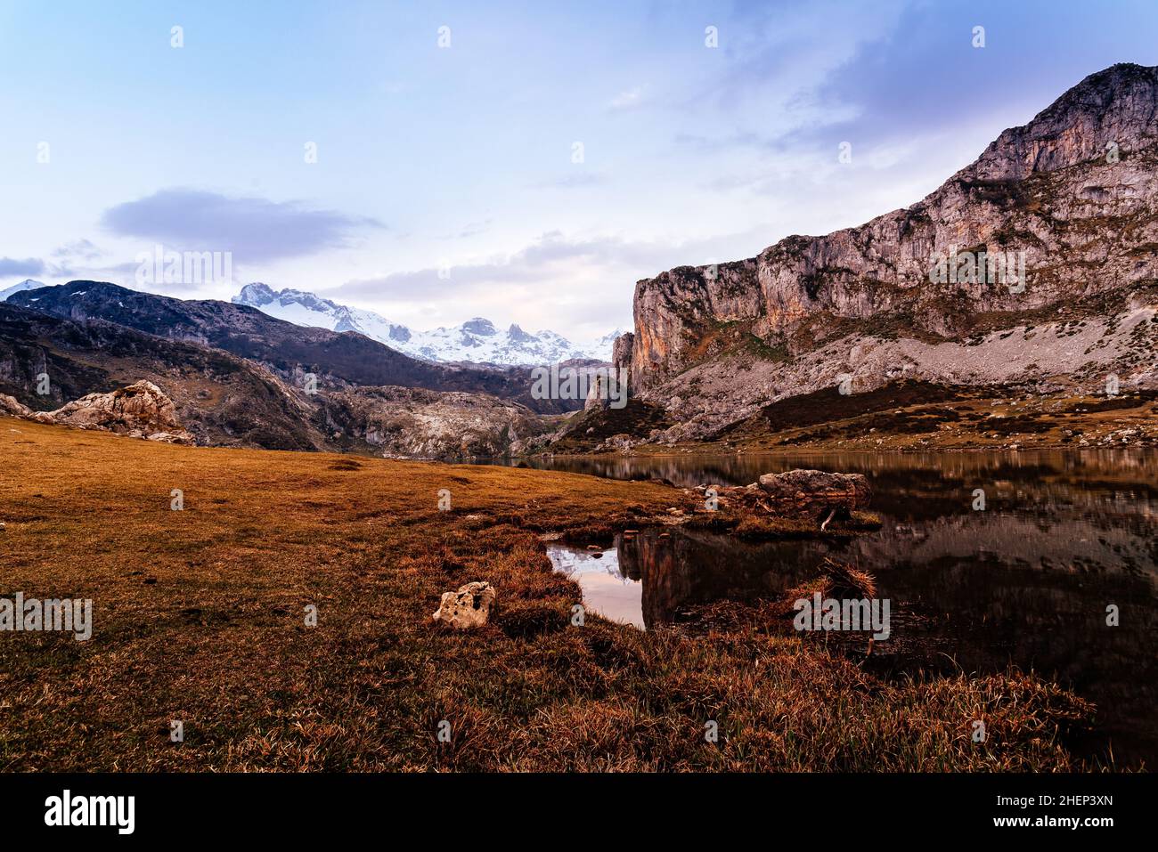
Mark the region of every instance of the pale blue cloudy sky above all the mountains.
[[[919, 200], [1156, 32], [1152, 0], [0, 0], [0, 288], [593, 339], [640, 278]], [[142, 278], [155, 247], [230, 274]]]

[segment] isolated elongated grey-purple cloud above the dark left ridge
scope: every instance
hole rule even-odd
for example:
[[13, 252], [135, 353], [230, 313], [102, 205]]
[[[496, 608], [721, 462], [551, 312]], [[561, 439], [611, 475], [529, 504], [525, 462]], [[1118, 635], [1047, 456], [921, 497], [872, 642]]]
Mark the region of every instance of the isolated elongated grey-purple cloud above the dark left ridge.
[[110, 207], [101, 225], [120, 236], [171, 244], [182, 250], [232, 251], [255, 263], [346, 248], [353, 235], [382, 223], [300, 201], [232, 198], [191, 189], [167, 189]]

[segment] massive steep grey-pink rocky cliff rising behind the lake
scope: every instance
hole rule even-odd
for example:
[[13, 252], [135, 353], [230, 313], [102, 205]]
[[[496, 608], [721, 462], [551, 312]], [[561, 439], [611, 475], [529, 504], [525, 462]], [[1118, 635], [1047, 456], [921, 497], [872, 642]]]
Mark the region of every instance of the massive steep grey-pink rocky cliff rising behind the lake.
[[614, 360], [677, 421], [652, 440], [900, 379], [1153, 387], [1158, 68], [1092, 74], [909, 207], [642, 280], [633, 310]]

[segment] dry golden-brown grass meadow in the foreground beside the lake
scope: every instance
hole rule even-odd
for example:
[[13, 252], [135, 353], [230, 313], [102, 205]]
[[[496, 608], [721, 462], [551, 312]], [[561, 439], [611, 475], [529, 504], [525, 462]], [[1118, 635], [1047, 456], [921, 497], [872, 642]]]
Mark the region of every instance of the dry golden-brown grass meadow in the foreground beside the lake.
[[[0, 595], [91, 597], [95, 620], [0, 633], [2, 770], [1077, 767], [1060, 732], [1090, 706], [1029, 676], [891, 684], [752, 626], [571, 626], [537, 532], [638, 527], [682, 499], [662, 485], [9, 419], [0, 455]], [[470, 580], [492, 623], [435, 627]]]

